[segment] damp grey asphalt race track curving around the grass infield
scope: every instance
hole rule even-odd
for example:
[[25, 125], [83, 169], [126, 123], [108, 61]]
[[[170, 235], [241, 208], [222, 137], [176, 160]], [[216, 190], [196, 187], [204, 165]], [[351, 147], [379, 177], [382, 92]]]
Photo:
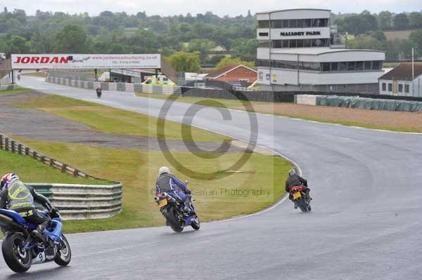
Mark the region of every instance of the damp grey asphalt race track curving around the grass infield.
[[[22, 86], [158, 116], [163, 100], [47, 84]], [[167, 119], [191, 105], [175, 102]], [[201, 109], [193, 124], [248, 140], [248, 113]], [[313, 212], [290, 201], [200, 231], [168, 227], [69, 234], [72, 262], [34, 265], [4, 279], [422, 279], [422, 135], [257, 114], [259, 145], [295, 161], [312, 188]], [[281, 182], [283, 187], [283, 182]]]

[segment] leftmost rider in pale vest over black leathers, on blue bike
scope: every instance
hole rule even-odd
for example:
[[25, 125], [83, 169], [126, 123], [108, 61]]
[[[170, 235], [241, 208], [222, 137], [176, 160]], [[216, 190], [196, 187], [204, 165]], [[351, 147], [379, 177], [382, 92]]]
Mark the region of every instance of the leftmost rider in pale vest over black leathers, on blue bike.
[[56, 214], [57, 209], [42, 194], [38, 194], [31, 186], [25, 185], [15, 173], [8, 173], [0, 181], [0, 208], [18, 212], [27, 222], [38, 225], [32, 234], [40, 241], [44, 239], [44, 229], [49, 223], [49, 218], [43, 217], [35, 208], [34, 202], [43, 205], [47, 211]]

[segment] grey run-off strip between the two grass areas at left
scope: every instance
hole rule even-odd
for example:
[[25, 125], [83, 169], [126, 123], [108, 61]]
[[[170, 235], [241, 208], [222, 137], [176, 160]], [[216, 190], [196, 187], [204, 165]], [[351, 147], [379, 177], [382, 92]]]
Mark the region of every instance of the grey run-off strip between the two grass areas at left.
[[[28, 98], [44, 95], [43, 93], [15, 93], [0, 97], [0, 132], [33, 140], [79, 143], [120, 149], [160, 150], [157, 138], [136, 135], [102, 133], [75, 121], [63, 119], [53, 114], [47, 114], [34, 109], [13, 107], [13, 103], [23, 102]], [[218, 149], [221, 142], [196, 142], [167, 140], [170, 151], [223, 152], [224, 147]], [[235, 143], [234, 143], [235, 144]], [[227, 144], [229, 145], [229, 144]], [[227, 152], [244, 152], [242, 145], [230, 145]]]

